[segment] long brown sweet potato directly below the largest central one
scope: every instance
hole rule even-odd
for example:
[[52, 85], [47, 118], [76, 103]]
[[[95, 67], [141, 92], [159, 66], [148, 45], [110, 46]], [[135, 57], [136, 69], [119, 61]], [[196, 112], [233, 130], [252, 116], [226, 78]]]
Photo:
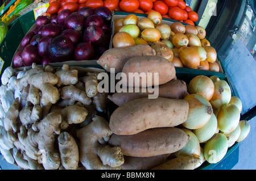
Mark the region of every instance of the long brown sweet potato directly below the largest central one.
[[112, 134], [110, 145], [119, 145], [123, 155], [131, 157], [153, 157], [174, 153], [189, 140], [188, 134], [179, 128], [154, 128], [133, 135]]

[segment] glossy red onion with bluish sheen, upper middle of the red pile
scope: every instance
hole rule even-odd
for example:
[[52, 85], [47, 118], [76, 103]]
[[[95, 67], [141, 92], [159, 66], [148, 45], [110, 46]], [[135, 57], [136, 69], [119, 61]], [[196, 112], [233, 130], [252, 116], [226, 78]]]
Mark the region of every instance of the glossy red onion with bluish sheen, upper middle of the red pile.
[[81, 31], [84, 27], [84, 16], [80, 14], [71, 14], [64, 20], [64, 27], [66, 29]]

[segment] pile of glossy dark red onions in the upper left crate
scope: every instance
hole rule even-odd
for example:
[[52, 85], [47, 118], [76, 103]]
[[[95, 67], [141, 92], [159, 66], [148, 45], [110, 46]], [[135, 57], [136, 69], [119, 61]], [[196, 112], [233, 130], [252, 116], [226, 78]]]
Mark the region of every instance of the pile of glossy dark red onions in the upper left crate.
[[112, 11], [107, 7], [68, 9], [39, 16], [14, 55], [15, 68], [69, 60], [97, 59], [109, 49]]

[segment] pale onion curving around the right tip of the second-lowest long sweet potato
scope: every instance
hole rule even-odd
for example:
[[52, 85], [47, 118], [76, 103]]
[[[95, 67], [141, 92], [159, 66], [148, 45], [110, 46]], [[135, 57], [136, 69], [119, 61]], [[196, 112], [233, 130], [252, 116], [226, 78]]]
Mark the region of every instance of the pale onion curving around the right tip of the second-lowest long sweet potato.
[[199, 158], [201, 149], [200, 149], [200, 143], [196, 135], [189, 129], [181, 129], [181, 130], [183, 130], [186, 134], [188, 134], [190, 138], [187, 144], [183, 148], [181, 148], [179, 151], [176, 151], [174, 155], [176, 157], [192, 155], [193, 157]]

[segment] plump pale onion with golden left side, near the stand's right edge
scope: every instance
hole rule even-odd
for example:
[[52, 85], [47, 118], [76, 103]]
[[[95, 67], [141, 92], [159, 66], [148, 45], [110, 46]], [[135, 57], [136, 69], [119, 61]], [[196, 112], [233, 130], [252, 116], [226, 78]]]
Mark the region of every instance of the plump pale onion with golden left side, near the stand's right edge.
[[239, 124], [240, 112], [233, 104], [222, 106], [218, 111], [217, 120], [220, 131], [224, 133], [232, 132]]

